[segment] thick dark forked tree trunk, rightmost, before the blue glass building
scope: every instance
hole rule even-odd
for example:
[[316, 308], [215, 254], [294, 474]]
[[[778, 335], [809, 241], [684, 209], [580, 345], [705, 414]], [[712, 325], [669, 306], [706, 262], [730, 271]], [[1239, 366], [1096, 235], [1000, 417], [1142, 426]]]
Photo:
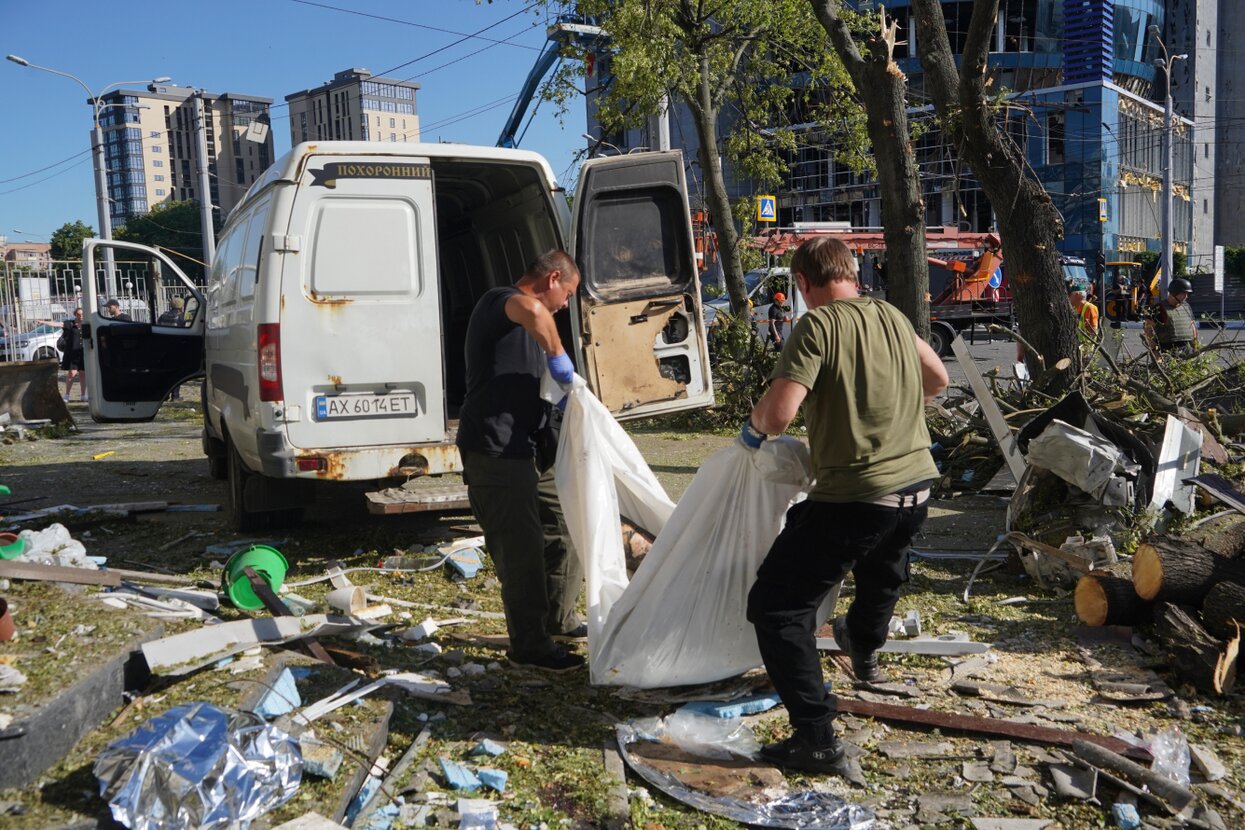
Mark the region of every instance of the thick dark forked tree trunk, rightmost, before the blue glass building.
[[942, 128], [972, 168], [998, 217], [1021, 331], [1047, 366], [1063, 357], [1072, 360], [1071, 370], [1052, 376], [1055, 387], [1066, 387], [1076, 376], [1079, 353], [1076, 317], [1067, 301], [1056, 248], [1063, 239], [1063, 218], [1032, 175], [1021, 149], [998, 128], [986, 93], [986, 58], [998, 0], [975, 1], [959, 73], [939, 0], [913, 0], [911, 7], [920, 34], [916, 44], [925, 87]]

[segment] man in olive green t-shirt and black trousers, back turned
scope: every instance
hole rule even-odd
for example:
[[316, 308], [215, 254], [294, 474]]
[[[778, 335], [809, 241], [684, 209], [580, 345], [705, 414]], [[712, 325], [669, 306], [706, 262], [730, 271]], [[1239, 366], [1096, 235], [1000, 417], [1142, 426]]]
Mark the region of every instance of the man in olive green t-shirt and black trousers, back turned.
[[794, 734], [763, 758], [813, 773], [838, 772], [838, 714], [814, 637], [817, 611], [850, 571], [855, 600], [834, 638], [857, 678], [880, 679], [913, 534], [937, 477], [925, 401], [946, 388], [934, 350], [891, 305], [859, 296], [857, 263], [843, 243], [814, 239], [796, 251], [796, 284], [812, 309], [792, 331], [769, 388], [740, 432], [756, 449], [804, 407], [817, 482], [757, 570], [748, 621]]

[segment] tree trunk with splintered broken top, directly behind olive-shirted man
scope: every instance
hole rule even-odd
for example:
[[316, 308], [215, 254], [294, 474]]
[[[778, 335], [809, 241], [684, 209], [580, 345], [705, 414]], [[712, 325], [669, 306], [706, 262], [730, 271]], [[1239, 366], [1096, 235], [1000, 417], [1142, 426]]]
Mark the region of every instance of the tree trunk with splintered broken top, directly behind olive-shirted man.
[[878, 34], [862, 56], [839, 16], [839, 0], [809, 0], [864, 103], [878, 164], [881, 224], [886, 239], [886, 299], [930, 335], [930, 270], [925, 250], [925, 202], [908, 132], [908, 78], [894, 61], [895, 24], [878, 12]]

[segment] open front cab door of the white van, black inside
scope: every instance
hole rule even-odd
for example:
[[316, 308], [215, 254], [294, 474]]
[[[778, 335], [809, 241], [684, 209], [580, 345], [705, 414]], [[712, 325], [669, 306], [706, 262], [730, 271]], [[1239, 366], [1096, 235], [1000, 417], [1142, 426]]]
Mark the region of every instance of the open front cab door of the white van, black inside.
[[203, 292], [162, 253], [133, 243], [87, 239], [82, 269], [91, 417], [151, 421], [169, 392], [203, 373]]

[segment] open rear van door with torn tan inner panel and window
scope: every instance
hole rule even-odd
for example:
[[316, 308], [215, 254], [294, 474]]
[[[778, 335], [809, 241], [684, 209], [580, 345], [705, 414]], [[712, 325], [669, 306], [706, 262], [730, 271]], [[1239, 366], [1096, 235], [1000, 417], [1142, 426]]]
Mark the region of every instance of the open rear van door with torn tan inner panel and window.
[[571, 225], [580, 375], [619, 418], [713, 403], [679, 151], [584, 162]]

